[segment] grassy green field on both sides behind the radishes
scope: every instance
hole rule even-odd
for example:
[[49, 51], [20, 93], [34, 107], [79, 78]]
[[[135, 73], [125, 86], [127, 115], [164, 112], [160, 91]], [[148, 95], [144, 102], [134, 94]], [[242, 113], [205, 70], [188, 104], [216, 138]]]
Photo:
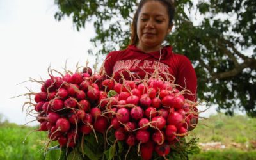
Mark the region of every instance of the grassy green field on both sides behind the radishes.
[[[29, 134], [33, 129], [36, 127], [1, 122], [0, 159], [58, 159], [59, 152], [56, 151], [44, 156], [46, 134]], [[200, 120], [191, 133], [191, 136], [194, 135], [200, 138], [202, 151], [189, 159], [256, 159], [255, 118], [239, 115], [229, 117], [220, 113]]]

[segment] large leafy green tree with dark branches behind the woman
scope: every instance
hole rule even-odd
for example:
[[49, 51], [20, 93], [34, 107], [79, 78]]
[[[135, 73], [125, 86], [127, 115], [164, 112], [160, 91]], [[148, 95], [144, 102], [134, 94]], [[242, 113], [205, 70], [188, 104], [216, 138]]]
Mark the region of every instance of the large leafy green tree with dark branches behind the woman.
[[[91, 40], [98, 54], [129, 44], [129, 26], [136, 0], [55, 0], [57, 20], [72, 17], [74, 26], [93, 22]], [[166, 38], [173, 51], [192, 61], [198, 76], [198, 97], [256, 116], [256, 1], [175, 1], [175, 28]]]

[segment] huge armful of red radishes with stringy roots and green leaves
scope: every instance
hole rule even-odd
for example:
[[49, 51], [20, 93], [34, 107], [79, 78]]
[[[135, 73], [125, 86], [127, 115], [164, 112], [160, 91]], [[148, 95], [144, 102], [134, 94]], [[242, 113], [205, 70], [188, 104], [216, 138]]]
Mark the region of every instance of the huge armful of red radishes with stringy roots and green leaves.
[[48, 134], [46, 149], [58, 141], [66, 157], [76, 151], [85, 159], [168, 159], [198, 151], [196, 138], [184, 140], [197, 122], [197, 104], [186, 100], [186, 89], [179, 92], [174, 81], [152, 77], [117, 83], [89, 67], [58, 72], [61, 77], [53, 71], [58, 72], [49, 70], [50, 78], [39, 82], [40, 92], [26, 94], [30, 102], [25, 103], [33, 106], [29, 115], [36, 111], [37, 131]]

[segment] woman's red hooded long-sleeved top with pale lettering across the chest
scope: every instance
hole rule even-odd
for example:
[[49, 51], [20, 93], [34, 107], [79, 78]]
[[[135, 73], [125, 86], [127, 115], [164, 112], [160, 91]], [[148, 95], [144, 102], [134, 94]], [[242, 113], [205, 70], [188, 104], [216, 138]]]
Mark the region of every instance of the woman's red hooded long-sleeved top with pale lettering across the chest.
[[[186, 87], [193, 93], [193, 95], [184, 94], [184, 97], [196, 101], [195, 70], [186, 56], [173, 53], [170, 46], [163, 47], [160, 54], [160, 51], [145, 53], [135, 45], [129, 45], [122, 51], [110, 52], [104, 61], [106, 74], [116, 81], [121, 79], [120, 75], [125, 79], [136, 77], [144, 79], [145, 76], [149, 78], [156, 68], [159, 75], [166, 80], [173, 80], [172, 76], [175, 77], [175, 84], [182, 88]], [[182, 88], [178, 87], [179, 90]]]

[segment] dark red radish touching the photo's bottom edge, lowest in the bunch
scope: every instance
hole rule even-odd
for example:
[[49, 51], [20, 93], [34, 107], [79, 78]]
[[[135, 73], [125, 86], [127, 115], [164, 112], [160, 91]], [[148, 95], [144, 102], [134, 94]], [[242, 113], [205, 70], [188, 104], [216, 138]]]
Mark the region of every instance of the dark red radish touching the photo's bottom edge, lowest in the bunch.
[[150, 160], [152, 158], [153, 151], [154, 143], [150, 140], [140, 146], [141, 157], [143, 160]]

